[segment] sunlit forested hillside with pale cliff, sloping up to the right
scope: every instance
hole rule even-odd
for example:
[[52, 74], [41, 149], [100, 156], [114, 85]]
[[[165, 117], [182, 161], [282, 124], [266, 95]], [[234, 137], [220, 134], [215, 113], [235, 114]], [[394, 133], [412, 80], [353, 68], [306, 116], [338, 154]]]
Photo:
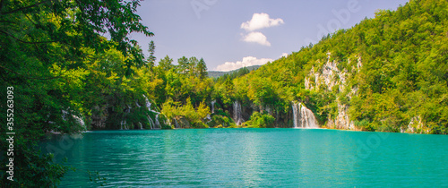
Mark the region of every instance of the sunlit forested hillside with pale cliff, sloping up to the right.
[[266, 64], [234, 82], [233, 98], [304, 102], [329, 128], [447, 133], [446, 1], [412, 0]]

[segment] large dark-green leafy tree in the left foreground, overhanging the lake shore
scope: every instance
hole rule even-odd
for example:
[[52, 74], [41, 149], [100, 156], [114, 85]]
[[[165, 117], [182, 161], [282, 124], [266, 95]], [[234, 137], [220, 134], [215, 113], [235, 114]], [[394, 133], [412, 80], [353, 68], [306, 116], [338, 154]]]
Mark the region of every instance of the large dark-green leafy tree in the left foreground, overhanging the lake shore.
[[[17, 151], [14, 181], [3, 186], [50, 187], [65, 174], [68, 168], [53, 163], [52, 155], [41, 154], [37, 143], [46, 132], [82, 131], [61, 117], [64, 112], [69, 116], [87, 114], [82, 91], [89, 73], [84, 63], [91, 56], [115, 48], [127, 57], [126, 75], [133, 74], [133, 66], [144, 64], [137, 42], [128, 38], [131, 32], [153, 35], [135, 14], [138, 5], [138, 0], [2, 1], [0, 86], [17, 91], [14, 124], [20, 124], [13, 130]], [[105, 33], [110, 40], [102, 37]], [[6, 98], [5, 93], [1, 92], [0, 98]], [[0, 115], [6, 116], [5, 106], [1, 107]], [[0, 130], [6, 132], [5, 126]], [[5, 135], [0, 135], [2, 141]], [[6, 145], [1, 144], [0, 149], [6, 150]], [[7, 164], [7, 159], [1, 158], [1, 163]], [[6, 172], [4, 166], [1, 170]], [[2, 181], [6, 175], [1, 175]]]

